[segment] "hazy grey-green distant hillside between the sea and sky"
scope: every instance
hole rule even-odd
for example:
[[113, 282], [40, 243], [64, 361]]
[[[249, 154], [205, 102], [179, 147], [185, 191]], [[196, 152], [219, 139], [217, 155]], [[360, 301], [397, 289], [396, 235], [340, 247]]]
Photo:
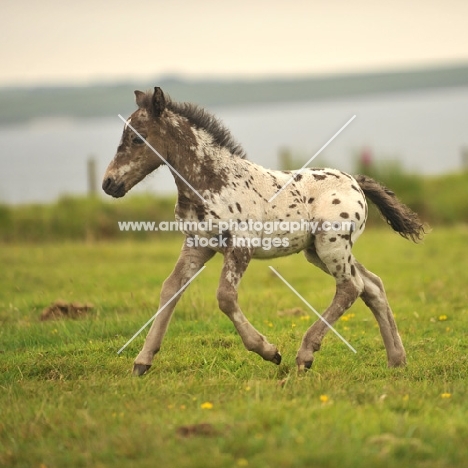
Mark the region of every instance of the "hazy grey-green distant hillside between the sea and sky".
[[313, 101], [415, 89], [468, 86], [468, 65], [385, 73], [267, 80], [155, 79], [83, 87], [1, 88], [0, 125], [41, 117], [99, 117], [134, 108], [133, 91], [161, 86], [178, 101], [213, 107], [245, 103]]

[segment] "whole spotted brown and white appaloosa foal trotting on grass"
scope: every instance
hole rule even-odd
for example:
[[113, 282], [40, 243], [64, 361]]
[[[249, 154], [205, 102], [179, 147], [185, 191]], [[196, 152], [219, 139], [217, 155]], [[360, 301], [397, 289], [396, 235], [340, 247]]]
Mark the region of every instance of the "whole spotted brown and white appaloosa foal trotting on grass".
[[[251, 259], [275, 258], [303, 250], [310, 263], [336, 281], [335, 296], [323, 318], [329, 324], [335, 323], [361, 297], [379, 324], [388, 365], [404, 365], [405, 350], [382, 281], [356, 261], [351, 248], [364, 230], [366, 196], [395, 231], [413, 241], [424, 235], [417, 215], [399, 202], [393, 192], [366, 176], [352, 177], [335, 169], [305, 169], [300, 174], [265, 169], [247, 161], [229, 131], [204, 109], [171, 101], [160, 88], [148, 93], [135, 91], [135, 95], [138, 110], [128, 119], [117, 154], [104, 175], [104, 191], [113, 197], [123, 197], [146, 175], [166, 163], [177, 185], [176, 219], [212, 221], [211, 228], [205, 225], [198, 228], [193, 223], [186, 230], [180, 257], [163, 284], [160, 307], [220, 252], [224, 255], [217, 291], [220, 309], [232, 320], [249, 351], [279, 364], [281, 355], [276, 346], [270, 344], [241, 311], [237, 288]], [[269, 202], [291, 177], [294, 177], [292, 183]], [[220, 222], [232, 220], [264, 224], [306, 220], [318, 226], [328, 223], [335, 227], [340, 221], [351, 224], [347, 229], [317, 229], [315, 232], [233, 228], [220, 233]], [[270, 248], [264, 248], [264, 240], [268, 238], [272, 241]], [[215, 242], [202, 247], [200, 244], [207, 242], [194, 242], [199, 239], [215, 239]], [[259, 239], [262, 242], [258, 242]], [[142, 375], [151, 367], [180, 295], [172, 299], [153, 322], [135, 360], [135, 375]], [[310, 368], [314, 352], [320, 349], [327, 330], [321, 320], [307, 330], [296, 357], [299, 369]]]

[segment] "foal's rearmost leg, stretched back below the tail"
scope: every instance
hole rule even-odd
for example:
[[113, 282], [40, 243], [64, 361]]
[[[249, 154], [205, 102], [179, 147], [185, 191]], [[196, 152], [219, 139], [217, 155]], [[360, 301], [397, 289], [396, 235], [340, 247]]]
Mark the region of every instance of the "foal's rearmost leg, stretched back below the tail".
[[379, 324], [380, 333], [387, 350], [388, 367], [406, 364], [405, 348], [398, 334], [392, 310], [388, 304], [382, 280], [356, 262], [358, 271], [364, 281], [362, 300], [374, 314]]

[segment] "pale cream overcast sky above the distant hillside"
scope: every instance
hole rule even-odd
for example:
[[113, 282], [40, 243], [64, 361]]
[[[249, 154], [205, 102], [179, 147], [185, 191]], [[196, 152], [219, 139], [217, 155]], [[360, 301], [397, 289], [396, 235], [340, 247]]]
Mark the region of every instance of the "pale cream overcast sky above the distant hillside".
[[0, 86], [468, 63], [466, 0], [2, 0]]

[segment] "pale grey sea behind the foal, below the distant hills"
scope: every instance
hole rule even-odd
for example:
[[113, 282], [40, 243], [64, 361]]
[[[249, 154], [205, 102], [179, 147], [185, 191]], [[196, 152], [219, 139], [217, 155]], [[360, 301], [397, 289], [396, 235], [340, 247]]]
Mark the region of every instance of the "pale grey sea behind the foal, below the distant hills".
[[[425, 175], [459, 171], [468, 164], [468, 87], [209, 110], [231, 130], [248, 159], [268, 168], [280, 168], [285, 152], [297, 168], [319, 153], [310, 166], [350, 173], [363, 154]], [[0, 203], [48, 203], [85, 195], [89, 159], [96, 162], [99, 188], [122, 129], [117, 115], [0, 127]], [[131, 192], [175, 191], [171, 174], [162, 167]]]

